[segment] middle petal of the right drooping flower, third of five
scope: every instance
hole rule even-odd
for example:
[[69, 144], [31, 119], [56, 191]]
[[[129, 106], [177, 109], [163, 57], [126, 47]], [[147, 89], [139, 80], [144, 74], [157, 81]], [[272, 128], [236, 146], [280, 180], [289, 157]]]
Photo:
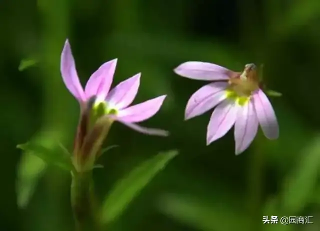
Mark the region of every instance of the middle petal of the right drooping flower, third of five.
[[237, 110], [238, 105], [228, 99], [215, 107], [207, 127], [207, 145], [226, 134], [235, 122]]

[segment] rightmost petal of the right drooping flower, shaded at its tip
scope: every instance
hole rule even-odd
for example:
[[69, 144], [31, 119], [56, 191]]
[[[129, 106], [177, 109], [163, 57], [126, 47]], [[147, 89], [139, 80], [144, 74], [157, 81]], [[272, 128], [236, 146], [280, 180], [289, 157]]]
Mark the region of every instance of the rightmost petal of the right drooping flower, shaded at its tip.
[[276, 139], [279, 136], [279, 125], [272, 105], [261, 89], [253, 95], [253, 103], [264, 135], [268, 139]]

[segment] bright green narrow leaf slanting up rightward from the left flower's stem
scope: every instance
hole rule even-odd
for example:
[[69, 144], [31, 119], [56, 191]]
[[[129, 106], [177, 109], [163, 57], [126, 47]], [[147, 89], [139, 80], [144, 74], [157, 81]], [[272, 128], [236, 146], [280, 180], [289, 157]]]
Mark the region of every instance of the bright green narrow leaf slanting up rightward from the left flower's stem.
[[101, 221], [113, 221], [128, 206], [130, 201], [163, 169], [166, 164], [178, 154], [176, 150], [160, 152], [142, 162], [120, 179], [106, 195], [101, 211]]

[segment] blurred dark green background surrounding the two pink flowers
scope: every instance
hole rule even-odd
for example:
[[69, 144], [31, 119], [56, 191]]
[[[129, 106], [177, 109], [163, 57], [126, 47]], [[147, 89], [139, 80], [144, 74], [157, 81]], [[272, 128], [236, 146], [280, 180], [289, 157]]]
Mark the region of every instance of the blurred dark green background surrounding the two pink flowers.
[[[316, 0], [2, 0], [0, 2], [0, 230], [72, 230], [70, 175], [16, 149], [33, 137], [72, 146], [78, 103], [65, 88], [60, 52], [69, 38], [84, 84], [118, 58], [113, 85], [142, 72], [135, 102], [168, 94], [143, 125], [168, 138], [115, 124], [118, 144], [94, 170], [100, 199], [117, 179], [159, 151], [180, 152], [106, 230], [320, 230], [320, 1]], [[18, 70], [21, 59], [38, 61]], [[205, 145], [210, 113], [183, 121], [204, 81], [172, 69], [188, 60], [240, 71], [264, 64], [280, 126], [259, 131], [234, 155], [233, 130]], [[263, 215], [313, 216], [313, 224], [262, 224]]]

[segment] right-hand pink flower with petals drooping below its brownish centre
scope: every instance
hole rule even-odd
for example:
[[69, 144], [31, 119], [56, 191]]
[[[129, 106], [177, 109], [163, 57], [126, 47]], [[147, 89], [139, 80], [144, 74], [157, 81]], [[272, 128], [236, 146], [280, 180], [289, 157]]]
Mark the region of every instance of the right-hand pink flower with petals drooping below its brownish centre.
[[278, 137], [277, 119], [270, 101], [259, 88], [254, 64], [246, 64], [241, 73], [213, 63], [188, 61], [174, 72], [183, 77], [215, 81], [195, 91], [185, 109], [185, 119], [190, 119], [216, 106], [207, 126], [207, 145], [225, 135], [233, 124], [235, 154], [250, 145], [258, 124], [267, 138]]

